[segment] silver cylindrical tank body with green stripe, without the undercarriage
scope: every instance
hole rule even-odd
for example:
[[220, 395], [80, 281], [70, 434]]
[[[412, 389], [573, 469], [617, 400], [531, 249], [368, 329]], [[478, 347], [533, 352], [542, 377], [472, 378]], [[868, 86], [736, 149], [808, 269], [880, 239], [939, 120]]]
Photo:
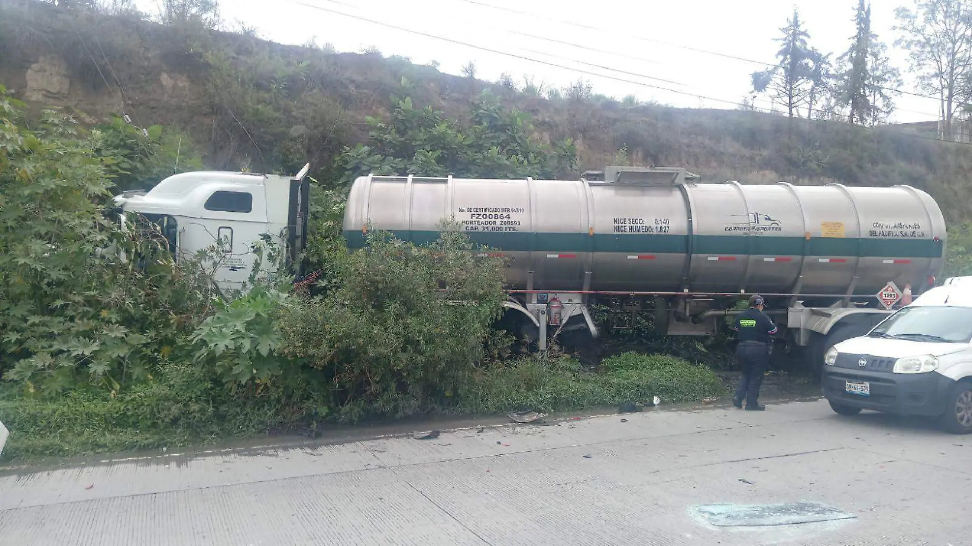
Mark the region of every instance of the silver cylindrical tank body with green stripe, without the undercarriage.
[[362, 177], [344, 234], [351, 248], [368, 227], [422, 244], [454, 216], [510, 259], [514, 290], [872, 295], [888, 281], [920, 290], [944, 266], [945, 220], [917, 188], [609, 169], [610, 182]]

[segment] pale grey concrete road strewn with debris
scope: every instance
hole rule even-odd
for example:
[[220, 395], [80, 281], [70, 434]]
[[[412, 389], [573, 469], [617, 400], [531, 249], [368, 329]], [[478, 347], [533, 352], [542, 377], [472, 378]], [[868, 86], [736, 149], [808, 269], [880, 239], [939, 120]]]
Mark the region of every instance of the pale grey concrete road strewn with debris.
[[[696, 508], [792, 501], [853, 519]], [[0, 544], [958, 546], [970, 507], [972, 437], [813, 401], [8, 469]]]

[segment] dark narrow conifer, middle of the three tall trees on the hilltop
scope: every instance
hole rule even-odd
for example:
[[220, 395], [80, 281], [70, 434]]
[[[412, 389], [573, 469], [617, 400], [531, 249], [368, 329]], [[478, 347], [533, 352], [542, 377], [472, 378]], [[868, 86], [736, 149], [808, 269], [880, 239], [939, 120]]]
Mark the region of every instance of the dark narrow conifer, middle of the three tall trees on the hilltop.
[[889, 89], [901, 85], [901, 75], [890, 66], [885, 45], [871, 32], [871, 5], [860, 0], [854, 14], [857, 32], [851, 48], [837, 59], [836, 102], [849, 109], [851, 123], [876, 124], [894, 110]]

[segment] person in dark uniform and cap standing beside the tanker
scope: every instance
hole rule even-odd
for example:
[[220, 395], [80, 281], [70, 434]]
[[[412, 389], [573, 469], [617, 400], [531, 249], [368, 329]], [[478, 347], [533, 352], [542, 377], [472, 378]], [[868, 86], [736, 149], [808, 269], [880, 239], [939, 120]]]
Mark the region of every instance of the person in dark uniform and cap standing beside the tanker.
[[743, 407], [745, 397], [747, 410], [766, 409], [758, 402], [759, 387], [763, 384], [763, 375], [770, 369], [770, 336], [777, 333], [777, 325], [763, 313], [765, 307], [763, 296], [749, 297], [749, 308], [736, 317], [733, 325], [733, 329], [739, 332], [736, 359], [743, 368], [743, 377], [732, 398], [737, 408]]

